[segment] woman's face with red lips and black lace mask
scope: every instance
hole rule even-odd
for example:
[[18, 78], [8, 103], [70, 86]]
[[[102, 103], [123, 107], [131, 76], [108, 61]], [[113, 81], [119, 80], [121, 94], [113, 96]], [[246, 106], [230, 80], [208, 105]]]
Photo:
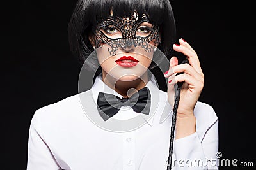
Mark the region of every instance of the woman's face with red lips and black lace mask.
[[132, 81], [147, 73], [159, 44], [158, 27], [146, 15], [109, 18], [97, 25], [94, 45], [102, 76]]

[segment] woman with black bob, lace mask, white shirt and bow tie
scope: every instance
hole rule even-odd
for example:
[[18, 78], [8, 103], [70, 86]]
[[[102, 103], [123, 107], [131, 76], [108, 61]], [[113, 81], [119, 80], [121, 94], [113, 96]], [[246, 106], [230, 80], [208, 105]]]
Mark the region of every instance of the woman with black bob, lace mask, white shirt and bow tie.
[[[68, 35], [93, 86], [35, 112], [27, 169], [166, 169], [170, 153], [172, 169], [218, 169], [218, 118], [198, 101], [204, 74], [196, 52], [183, 39], [173, 45], [169, 1], [80, 0]], [[172, 48], [189, 64], [178, 65]], [[166, 59], [169, 69], [151, 74]], [[167, 93], [154, 76], [168, 78]], [[182, 82], [170, 152], [170, 113]]]

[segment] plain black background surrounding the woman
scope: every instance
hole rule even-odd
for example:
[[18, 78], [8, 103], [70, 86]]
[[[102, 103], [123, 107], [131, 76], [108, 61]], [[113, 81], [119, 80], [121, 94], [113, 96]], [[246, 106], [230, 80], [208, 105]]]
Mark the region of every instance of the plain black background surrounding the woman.
[[[26, 0], [2, 6], [1, 169], [26, 169], [33, 113], [77, 94], [81, 65], [70, 53], [67, 38], [75, 3]], [[177, 39], [184, 38], [193, 46], [205, 74], [200, 101], [211, 104], [218, 115], [222, 158], [253, 162], [255, 167], [252, 1], [171, 3]]]

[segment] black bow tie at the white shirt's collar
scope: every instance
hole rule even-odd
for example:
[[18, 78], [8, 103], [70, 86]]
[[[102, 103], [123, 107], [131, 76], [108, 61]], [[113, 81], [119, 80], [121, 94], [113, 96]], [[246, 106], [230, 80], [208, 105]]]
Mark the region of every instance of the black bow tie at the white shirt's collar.
[[100, 116], [106, 121], [113, 117], [122, 106], [131, 106], [137, 113], [149, 115], [151, 94], [148, 87], [138, 90], [131, 97], [122, 98], [113, 94], [99, 92], [97, 100], [97, 109]]

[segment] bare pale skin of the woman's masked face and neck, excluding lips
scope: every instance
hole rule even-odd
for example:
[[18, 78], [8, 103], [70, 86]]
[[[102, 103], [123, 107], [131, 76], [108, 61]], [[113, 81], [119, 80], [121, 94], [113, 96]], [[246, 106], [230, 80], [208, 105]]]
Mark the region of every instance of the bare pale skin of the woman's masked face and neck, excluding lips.
[[[138, 27], [137, 33], [143, 36], [143, 34], [147, 35], [149, 33], [146, 33], [145, 31], [141, 31], [139, 28], [143, 26], [152, 27], [152, 24], [148, 22], [143, 22]], [[102, 31], [104, 32], [104, 31]], [[121, 34], [120, 31], [117, 29], [113, 30], [113, 33], [109, 33], [108, 37], [115, 37], [116, 35]], [[122, 35], [122, 34], [121, 34]], [[89, 37], [90, 42], [94, 43], [95, 37], [90, 36]], [[150, 45], [156, 46], [157, 43], [155, 43], [156, 40], [153, 39], [150, 41]], [[146, 83], [148, 82], [148, 74], [147, 69], [150, 66], [152, 62], [152, 58], [149, 57], [150, 55], [153, 55], [153, 51], [150, 53], [145, 52], [143, 55], [139, 55], [138, 51], [134, 51], [136, 48], [134, 45], [129, 46], [127, 48], [119, 48], [116, 52], [116, 55], [109, 56], [108, 52], [108, 45], [103, 45], [101, 48], [97, 49], [97, 55], [98, 60], [100, 63], [100, 66], [102, 67], [102, 80], [106, 85], [111, 87], [112, 89], [115, 89], [116, 92], [121, 94], [123, 97], [129, 97], [131, 94], [127, 94], [127, 91], [131, 88], [134, 88], [136, 90], [140, 90], [143, 87], [145, 87]], [[131, 69], [122, 69], [118, 64], [116, 64], [115, 60], [122, 57], [123, 55], [132, 55], [135, 59], [139, 60], [139, 63], [137, 67], [132, 67]], [[147, 57], [145, 57], [147, 56]], [[143, 73], [142, 73], [143, 72]], [[118, 80], [115, 80], [115, 78], [118, 77]]]

